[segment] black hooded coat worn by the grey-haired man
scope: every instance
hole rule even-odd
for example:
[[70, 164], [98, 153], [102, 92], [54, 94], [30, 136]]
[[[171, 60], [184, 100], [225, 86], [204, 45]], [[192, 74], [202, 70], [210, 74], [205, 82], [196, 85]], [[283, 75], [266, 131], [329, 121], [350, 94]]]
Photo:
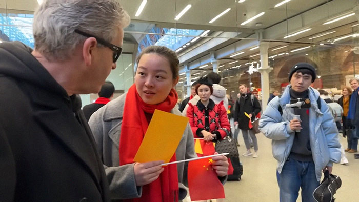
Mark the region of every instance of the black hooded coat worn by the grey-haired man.
[[0, 44], [0, 58], [0, 201], [109, 201], [76, 96], [23, 44]]

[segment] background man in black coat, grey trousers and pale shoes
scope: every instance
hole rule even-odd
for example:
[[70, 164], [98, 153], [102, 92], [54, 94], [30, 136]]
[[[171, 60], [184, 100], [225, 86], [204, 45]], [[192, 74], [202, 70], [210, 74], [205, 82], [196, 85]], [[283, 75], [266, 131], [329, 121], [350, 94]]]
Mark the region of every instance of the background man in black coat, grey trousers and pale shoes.
[[[258, 143], [257, 137], [253, 130], [249, 129], [248, 123], [254, 121], [255, 116], [261, 112], [261, 105], [258, 102], [258, 99], [248, 92], [246, 84], [240, 84], [241, 95], [237, 99], [235, 111], [234, 111], [234, 125], [238, 125], [238, 128], [241, 129], [244, 143], [246, 145], [247, 151], [243, 156], [253, 155], [253, 158], [258, 158]], [[248, 114], [249, 118], [245, 115]], [[250, 150], [250, 143], [248, 138], [248, 133], [252, 138], [254, 145], [254, 154]]]

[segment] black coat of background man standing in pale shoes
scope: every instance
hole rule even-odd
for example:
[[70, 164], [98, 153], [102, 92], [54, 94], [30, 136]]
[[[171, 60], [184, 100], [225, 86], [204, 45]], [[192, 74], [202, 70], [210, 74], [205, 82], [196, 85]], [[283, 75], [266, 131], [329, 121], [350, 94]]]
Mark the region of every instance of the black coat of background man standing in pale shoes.
[[249, 130], [249, 118], [244, 114], [252, 114], [252, 121], [255, 118], [255, 115], [261, 112], [261, 104], [258, 102], [258, 99], [253, 96], [253, 105], [251, 102], [251, 93], [247, 93], [245, 98], [241, 95], [240, 98], [237, 99], [235, 110], [233, 113], [234, 121], [238, 122], [238, 128], [242, 130]]

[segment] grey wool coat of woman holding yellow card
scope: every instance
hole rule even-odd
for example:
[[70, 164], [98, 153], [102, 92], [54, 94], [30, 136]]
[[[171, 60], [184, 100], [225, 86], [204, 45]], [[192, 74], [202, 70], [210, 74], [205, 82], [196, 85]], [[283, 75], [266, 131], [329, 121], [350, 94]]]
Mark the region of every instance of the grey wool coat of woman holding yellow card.
[[[134, 178], [134, 164], [119, 165], [119, 137], [121, 134], [122, 116], [127, 93], [117, 97], [96, 111], [89, 120], [89, 125], [97, 143], [97, 150], [103, 160], [105, 172], [110, 184], [111, 199], [138, 198], [142, 187], [137, 187]], [[171, 113], [181, 115], [173, 108]], [[183, 160], [197, 157], [194, 151], [194, 140], [191, 127], [187, 125], [176, 150], [176, 159]], [[187, 164], [177, 164], [179, 200], [185, 198], [187, 190]], [[224, 182], [226, 177], [220, 177]]]

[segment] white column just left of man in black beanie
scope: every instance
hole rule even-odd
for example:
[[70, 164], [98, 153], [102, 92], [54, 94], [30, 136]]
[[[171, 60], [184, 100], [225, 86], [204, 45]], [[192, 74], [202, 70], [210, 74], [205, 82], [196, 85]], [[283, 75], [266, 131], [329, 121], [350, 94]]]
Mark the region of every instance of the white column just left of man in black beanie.
[[272, 67], [268, 65], [268, 47], [269, 42], [260, 42], [261, 53], [261, 68], [258, 71], [261, 73], [262, 83], [262, 110], [266, 110], [267, 101], [269, 98], [269, 72], [272, 71]]

